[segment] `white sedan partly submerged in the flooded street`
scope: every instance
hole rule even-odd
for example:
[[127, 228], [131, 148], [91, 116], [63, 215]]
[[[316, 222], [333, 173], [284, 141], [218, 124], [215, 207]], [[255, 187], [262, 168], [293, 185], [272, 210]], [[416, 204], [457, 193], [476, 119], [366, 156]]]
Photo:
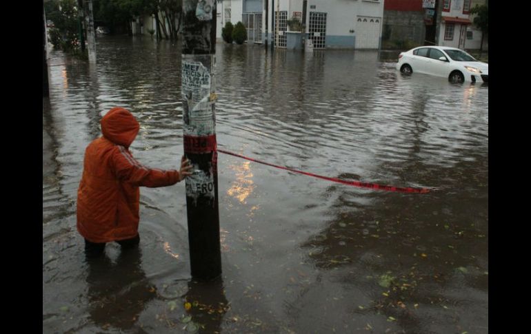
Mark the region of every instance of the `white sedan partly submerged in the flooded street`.
[[451, 83], [488, 83], [489, 65], [461, 49], [421, 46], [399, 54], [397, 70], [404, 74], [423, 73], [448, 78]]

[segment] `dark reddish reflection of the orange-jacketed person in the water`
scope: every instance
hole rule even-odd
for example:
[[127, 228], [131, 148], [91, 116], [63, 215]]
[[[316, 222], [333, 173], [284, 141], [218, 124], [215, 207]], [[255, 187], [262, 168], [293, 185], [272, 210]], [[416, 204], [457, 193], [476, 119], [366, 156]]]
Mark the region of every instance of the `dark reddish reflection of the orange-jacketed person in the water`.
[[90, 319], [103, 329], [130, 329], [157, 295], [141, 267], [141, 249], [122, 249], [116, 263], [107, 255], [87, 258]]

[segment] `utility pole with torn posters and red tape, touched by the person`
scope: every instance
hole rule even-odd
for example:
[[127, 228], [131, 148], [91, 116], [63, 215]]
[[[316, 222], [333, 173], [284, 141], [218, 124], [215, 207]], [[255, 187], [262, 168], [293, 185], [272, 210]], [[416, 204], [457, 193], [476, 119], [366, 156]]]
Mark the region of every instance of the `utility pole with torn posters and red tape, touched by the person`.
[[194, 166], [194, 174], [186, 178], [186, 212], [190, 267], [197, 280], [221, 275], [214, 107], [216, 2], [183, 0], [183, 140], [184, 154]]

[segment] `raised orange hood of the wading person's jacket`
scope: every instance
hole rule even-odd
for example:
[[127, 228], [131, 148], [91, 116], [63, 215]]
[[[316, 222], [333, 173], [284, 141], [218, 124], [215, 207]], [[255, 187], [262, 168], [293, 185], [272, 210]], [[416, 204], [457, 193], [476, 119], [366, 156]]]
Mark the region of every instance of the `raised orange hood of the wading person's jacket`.
[[122, 107], [114, 107], [101, 118], [101, 133], [117, 145], [129, 147], [139, 133], [140, 125], [132, 114]]

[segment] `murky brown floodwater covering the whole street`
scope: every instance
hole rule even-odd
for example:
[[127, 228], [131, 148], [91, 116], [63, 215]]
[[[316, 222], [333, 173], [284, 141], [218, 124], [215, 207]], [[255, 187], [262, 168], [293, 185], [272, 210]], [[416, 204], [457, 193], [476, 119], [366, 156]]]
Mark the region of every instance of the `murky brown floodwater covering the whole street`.
[[[103, 36], [50, 52], [43, 100], [43, 333], [488, 333], [488, 86], [402, 76], [378, 52], [217, 45], [221, 280], [190, 277], [184, 182], [141, 189], [141, 243], [87, 262], [83, 152], [114, 106], [132, 153], [183, 154], [180, 49]], [[190, 304], [186, 304], [186, 303]]]

